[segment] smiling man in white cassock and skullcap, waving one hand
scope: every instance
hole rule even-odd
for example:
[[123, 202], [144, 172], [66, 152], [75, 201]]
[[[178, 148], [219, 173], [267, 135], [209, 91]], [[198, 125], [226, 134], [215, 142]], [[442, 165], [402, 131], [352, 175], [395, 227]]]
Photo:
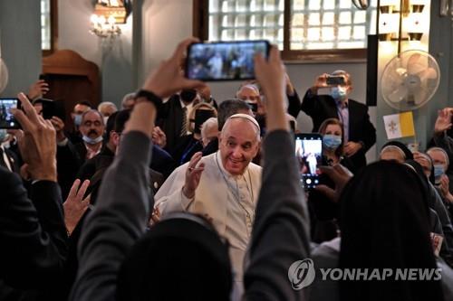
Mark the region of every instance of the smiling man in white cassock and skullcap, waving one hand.
[[205, 157], [195, 154], [170, 174], [155, 196], [155, 211], [160, 216], [185, 211], [213, 222], [229, 241], [236, 282], [242, 282], [243, 260], [261, 187], [261, 167], [251, 162], [260, 147], [259, 134], [255, 118], [231, 116], [219, 133], [217, 153]]

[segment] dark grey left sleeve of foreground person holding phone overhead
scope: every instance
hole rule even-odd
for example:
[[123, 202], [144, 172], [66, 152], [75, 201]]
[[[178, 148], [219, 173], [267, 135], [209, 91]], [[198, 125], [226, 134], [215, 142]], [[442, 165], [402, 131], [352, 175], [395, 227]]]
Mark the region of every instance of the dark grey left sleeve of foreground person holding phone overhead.
[[[151, 141], [140, 132], [121, 138], [120, 152], [104, 174], [96, 207], [84, 221], [79, 271], [70, 300], [114, 300], [120, 264], [144, 233], [149, 210]], [[133, 155], [130, 155], [133, 154]]]

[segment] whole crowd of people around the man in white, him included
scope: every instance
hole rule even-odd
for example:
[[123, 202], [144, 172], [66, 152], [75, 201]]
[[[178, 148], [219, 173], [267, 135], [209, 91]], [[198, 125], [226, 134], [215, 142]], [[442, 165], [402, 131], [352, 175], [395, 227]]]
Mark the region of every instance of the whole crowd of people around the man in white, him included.
[[[0, 129], [0, 300], [453, 298], [453, 108], [425, 153], [390, 141], [367, 165], [376, 130], [346, 71], [301, 100], [272, 47], [254, 58], [256, 80], [217, 102], [181, 70], [193, 42], [120, 109], [78, 102], [71, 128], [44, 118], [45, 81], [18, 94], [22, 128]], [[308, 191], [290, 127], [301, 110], [323, 137], [322, 157], [307, 154], [320, 179]], [[293, 268], [308, 259], [312, 278]], [[335, 280], [320, 268], [440, 277]]]

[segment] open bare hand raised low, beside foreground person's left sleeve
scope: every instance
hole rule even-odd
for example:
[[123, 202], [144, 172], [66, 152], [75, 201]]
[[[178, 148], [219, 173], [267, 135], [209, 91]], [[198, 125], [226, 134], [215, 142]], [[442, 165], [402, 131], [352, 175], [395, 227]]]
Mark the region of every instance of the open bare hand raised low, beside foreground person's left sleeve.
[[75, 180], [74, 183], [72, 183], [71, 191], [69, 192], [66, 201], [63, 202], [64, 223], [66, 224], [68, 234], [72, 233], [75, 226], [77, 226], [81, 220], [83, 213], [90, 206], [91, 194], [83, 199], [83, 195], [86, 193], [89, 185], [89, 180], [83, 181], [82, 186], [81, 180]]

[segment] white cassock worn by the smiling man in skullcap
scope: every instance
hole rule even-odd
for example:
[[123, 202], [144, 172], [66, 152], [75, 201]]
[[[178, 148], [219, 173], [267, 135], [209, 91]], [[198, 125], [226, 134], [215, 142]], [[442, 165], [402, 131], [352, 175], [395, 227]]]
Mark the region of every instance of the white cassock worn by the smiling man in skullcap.
[[[235, 281], [242, 282], [243, 261], [252, 233], [255, 206], [261, 187], [261, 167], [250, 163], [243, 175], [228, 174], [220, 152], [201, 159], [201, 174], [195, 197], [182, 193], [188, 163], [179, 166], [156, 193], [155, 208], [161, 216], [169, 212], [193, 212], [212, 219], [220, 236], [229, 241]], [[237, 285], [237, 284], [236, 284]], [[239, 284], [242, 287], [242, 283]]]

